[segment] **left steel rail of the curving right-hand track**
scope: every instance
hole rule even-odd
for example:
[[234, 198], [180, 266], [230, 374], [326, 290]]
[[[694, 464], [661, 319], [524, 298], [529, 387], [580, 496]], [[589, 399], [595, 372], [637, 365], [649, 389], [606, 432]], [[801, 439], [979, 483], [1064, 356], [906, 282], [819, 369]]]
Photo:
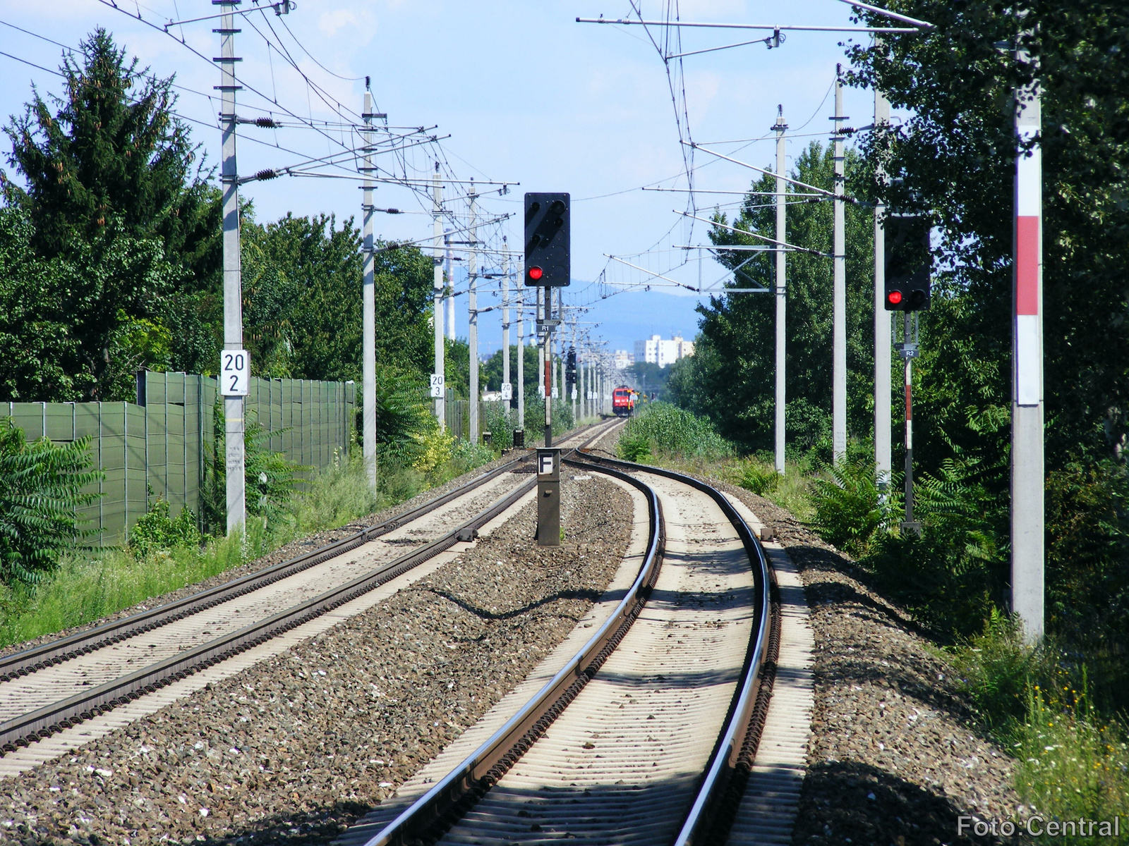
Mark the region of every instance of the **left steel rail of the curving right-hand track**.
[[611, 616], [552, 679], [462, 764], [369, 838], [365, 846], [409, 846], [465, 813], [548, 731], [596, 675], [646, 605], [663, 559], [663, 511], [658, 496], [649, 485], [627, 473], [588, 461], [564, 461], [622, 479], [647, 497], [647, 553], [634, 582]]

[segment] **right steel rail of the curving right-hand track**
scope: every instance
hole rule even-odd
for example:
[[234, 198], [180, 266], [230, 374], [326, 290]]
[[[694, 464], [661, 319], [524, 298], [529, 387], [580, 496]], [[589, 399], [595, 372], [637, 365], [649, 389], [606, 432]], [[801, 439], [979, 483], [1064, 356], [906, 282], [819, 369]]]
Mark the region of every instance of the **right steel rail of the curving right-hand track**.
[[[697, 844], [717, 843], [718, 831], [716, 830], [719, 811], [726, 801], [727, 787], [734, 781], [737, 768], [742, 765], [743, 750], [747, 757], [749, 749], [755, 750], [756, 737], [750, 737], [751, 731], [759, 732], [762, 728], [761, 720], [754, 719], [754, 712], [761, 706], [767, 706], [767, 696], [761, 696], [761, 676], [764, 669], [765, 659], [770, 655], [771, 638], [771, 592], [772, 571], [769, 567], [764, 549], [752, 529], [745, 522], [741, 513], [733, 506], [725, 495], [712, 485], [709, 485], [693, 476], [688, 476], [675, 470], [650, 465], [638, 465], [630, 461], [621, 461], [614, 458], [587, 456], [590, 460], [601, 464], [610, 464], [628, 470], [650, 473], [657, 476], [675, 479], [684, 485], [689, 485], [707, 494], [717, 503], [726, 519], [736, 528], [741, 537], [742, 545], [749, 555], [750, 563], [754, 569], [756, 580], [756, 627], [755, 636], [750, 642], [750, 649], [745, 656], [745, 666], [742, 670], [741, 682], [734, 691], [729, 712], [726, 716], [724, 729], [718, 737], [718, 741], [710, 755], [706, 766], [701, 785], [698, 788], [694, 801], [690, 807], [686, 820], [679, 831], [675, 846], [695, 846]], [[774, 660], [774, 659], [772, 659]], [[769, 682], [771, 684], [771, 682]], [[771, 694], [771, 687], [764, 691]], [[747, 765], [746, 765], [747, 766]], [[732, 820], [730, 820], [732, 821]], [[724, 840], [724, 837], [721, 838]]]

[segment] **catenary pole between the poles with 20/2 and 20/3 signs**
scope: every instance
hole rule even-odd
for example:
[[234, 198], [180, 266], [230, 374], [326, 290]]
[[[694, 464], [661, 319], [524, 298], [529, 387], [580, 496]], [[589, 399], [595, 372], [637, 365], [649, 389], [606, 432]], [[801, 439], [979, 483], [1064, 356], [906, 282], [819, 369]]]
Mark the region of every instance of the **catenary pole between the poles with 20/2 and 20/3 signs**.
[[376, 254], [373, 252], [373, 133], [367, 129], [373, 124], [373, 92], [365, 91], [362, 120], [366, 129], [361, 140], [365, 143], [365, 182], [361, 183], [361, 237], [365, 266], [361, 273], [361, 453], [365, 458], [365, 477], [369, 487], [376, 490]]

